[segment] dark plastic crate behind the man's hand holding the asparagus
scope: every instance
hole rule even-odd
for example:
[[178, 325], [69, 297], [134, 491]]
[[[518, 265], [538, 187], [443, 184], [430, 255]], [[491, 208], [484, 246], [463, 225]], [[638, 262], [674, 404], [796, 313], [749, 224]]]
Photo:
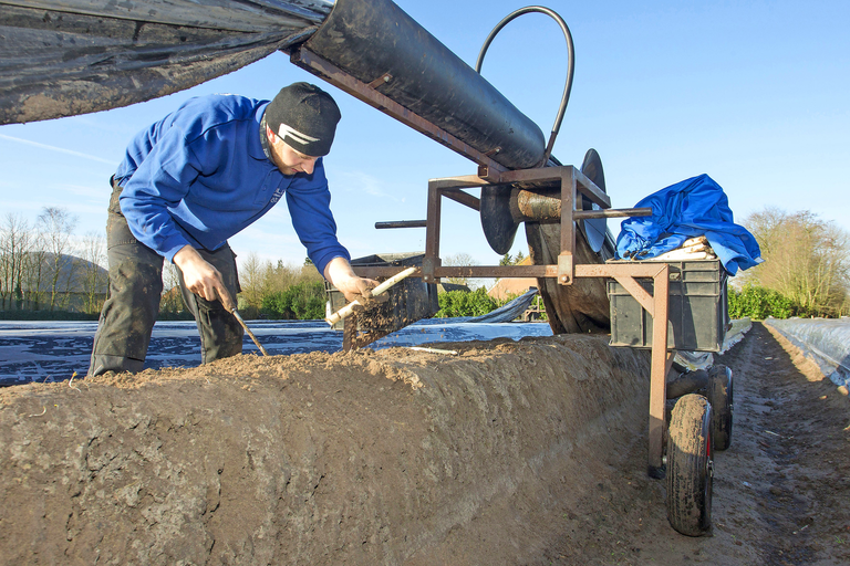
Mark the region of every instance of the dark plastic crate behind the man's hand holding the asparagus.
[[[425, 254], [422, 252], [382, 253], [351, 260], [351, 264], [354, 268], [383, 268], [392, 265], [397, 266], [398, 271], [402, 271], [404, 268], [422, 265], [424, 258]], [[336, 287], [325, 283], [325, 291], [328, 292], [331, 313], [339, 311], [348, 303]], [[424, 283], [421, 277], [407, 277], [390, 287], [386, 294], [390, 296], [386, 302], [380, 303], [376, 307], [370, 310], [369, 316], [357, 317], [359, 331], [388, 334], [422, 318], [429, 318], [439, 311], [437, 285]], [[340, 321], [332, 327], [341, 331], [343, 324], [344, 321]]]

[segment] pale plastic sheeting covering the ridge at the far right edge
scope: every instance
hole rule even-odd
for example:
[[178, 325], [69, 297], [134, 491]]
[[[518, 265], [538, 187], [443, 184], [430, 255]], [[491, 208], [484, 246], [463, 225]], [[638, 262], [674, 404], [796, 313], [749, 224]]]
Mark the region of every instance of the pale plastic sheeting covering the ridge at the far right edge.
[[838, 386], [850, 386], [850, 318], [768, 318]]

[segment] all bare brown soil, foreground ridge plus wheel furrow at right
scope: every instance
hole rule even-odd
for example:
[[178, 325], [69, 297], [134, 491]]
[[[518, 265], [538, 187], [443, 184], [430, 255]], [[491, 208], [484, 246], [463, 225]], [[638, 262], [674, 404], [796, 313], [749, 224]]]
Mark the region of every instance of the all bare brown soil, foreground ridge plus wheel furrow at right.
[[756, 324], [714, 533], [646, 476], [649, 356], [240, 356], [0, 391], [3, 564], [850, 564], [850, 403]]

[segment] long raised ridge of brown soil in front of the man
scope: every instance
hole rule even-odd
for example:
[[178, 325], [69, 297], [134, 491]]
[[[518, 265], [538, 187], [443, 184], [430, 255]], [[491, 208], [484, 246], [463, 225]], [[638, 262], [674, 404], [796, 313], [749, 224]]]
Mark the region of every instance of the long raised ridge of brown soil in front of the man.
[[564, 509], [594, 501], [597, 479], [644, 439], [649, 356], [607, 344], [239, 356], [4, 389], [0, 555], [539, 560], [563, 535]]

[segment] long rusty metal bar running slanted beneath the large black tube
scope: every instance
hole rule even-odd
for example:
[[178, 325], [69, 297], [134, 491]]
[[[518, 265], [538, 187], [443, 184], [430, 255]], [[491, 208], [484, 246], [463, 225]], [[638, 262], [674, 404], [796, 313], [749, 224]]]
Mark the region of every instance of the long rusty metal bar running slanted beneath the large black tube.
[[415, 129], [419, 134], [423, 134], [437, 142], [438, 144], [446, 146], [453, 151], [460, 154], [467, 159], [475, 161], [479, 166], [486, 166], [489, 170], [497, 172], [507, 170], [506, 167], [490, 159], [490, 157], [478, 151], [473, 146], [462, 142], [448, 132], [435, 126], [422, 116], [414, 114], [397, 102], [375, 91], [370, 85], [357, 81], [350, 74], [345, 73], [329, 61], [320, 57], [310, 50], [303, 46], [294, 49], [290, 54], [290, 60], [294, 65], [307, 69], [311, 73], [318, 74], [341, 91], [349, 93], [355, 98], [369, 104], [373, 108], [383, 112], [392, 118], [397, 119], [405, 126]]

